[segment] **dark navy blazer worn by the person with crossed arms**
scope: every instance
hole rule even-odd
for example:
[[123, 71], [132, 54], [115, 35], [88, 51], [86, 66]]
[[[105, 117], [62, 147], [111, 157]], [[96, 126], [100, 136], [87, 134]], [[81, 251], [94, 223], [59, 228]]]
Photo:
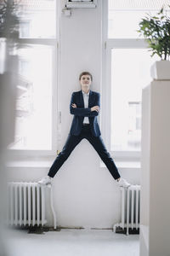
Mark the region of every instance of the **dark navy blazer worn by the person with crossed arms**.
[[[77, 104], [77, 108], [73, 108], [72, 103]], [[99, 124], [97, 116], [99, 112], [91, 111], [90, 108], [94, 106], [99, 106], [100, 108], [100, 94], [94, 90], [89, 91], [88, 97], [88, 108], [84, 108], [84, 100], [82, 95], [82, 90], [74, 91], [71, 95], [71, 103], [70, 103], [70, 113], [74, 114], [74, 118], [72, 119], [70, 134], [78, 136], [82, 131], [82, 123], [85, 116], [88, 116], [90, 129], [94, 137], [99, 137], [101, 132], [99, 130]]]

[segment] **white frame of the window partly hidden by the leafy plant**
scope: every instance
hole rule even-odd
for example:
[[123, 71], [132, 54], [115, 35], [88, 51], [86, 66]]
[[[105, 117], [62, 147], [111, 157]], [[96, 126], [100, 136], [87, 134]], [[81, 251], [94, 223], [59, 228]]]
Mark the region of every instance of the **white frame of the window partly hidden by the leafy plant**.
[[[111, 50], [147, 49], [144, 38], [108, 38], [108, 0], [102, 6], [102, 115], [101, 129], [106, 147], [116, 161], [140, 161], [141, 151], [111, 150]], [[107, 114], [105, 114], [107, 113]]]

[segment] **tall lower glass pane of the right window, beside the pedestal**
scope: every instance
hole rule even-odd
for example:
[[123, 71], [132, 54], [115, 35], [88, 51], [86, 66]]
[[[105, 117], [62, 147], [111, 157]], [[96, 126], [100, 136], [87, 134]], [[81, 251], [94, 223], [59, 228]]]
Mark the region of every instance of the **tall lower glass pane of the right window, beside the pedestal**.
[[142, 88], [157, 60], [148, 49], [111, 50], [111, 150], [140, 150]]

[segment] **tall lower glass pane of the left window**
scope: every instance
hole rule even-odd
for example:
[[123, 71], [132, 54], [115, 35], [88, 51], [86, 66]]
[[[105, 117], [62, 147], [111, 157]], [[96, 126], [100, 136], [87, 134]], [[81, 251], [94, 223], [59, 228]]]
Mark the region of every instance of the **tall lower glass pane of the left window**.
[[19, 49], [14, 149], [51, 149], [52, 47]]

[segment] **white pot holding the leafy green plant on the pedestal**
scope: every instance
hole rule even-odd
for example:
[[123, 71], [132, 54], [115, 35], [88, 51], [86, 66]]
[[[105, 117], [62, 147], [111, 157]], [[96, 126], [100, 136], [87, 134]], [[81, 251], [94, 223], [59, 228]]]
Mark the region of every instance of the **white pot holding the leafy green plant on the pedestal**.
[[150, 67], [150, 75], [156, 80], [170, 80], [170, 61], [156, 61]]

